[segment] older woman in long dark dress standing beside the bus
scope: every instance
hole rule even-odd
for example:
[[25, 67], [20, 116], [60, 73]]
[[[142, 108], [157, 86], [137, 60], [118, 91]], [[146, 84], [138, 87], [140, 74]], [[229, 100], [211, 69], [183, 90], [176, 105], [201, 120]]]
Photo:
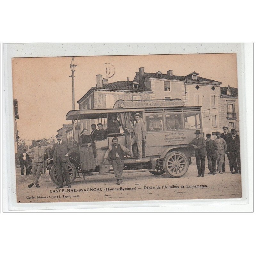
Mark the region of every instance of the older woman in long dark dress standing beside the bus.
[[79, 152], [80, 152], [80, 164], [83, 172], [87, 172], [89, 175], [91, 171], [95, 169], [96, 164], [92, 150], [92, 138], [88, 135], [88, 130], [85, 128], [79, 137]]

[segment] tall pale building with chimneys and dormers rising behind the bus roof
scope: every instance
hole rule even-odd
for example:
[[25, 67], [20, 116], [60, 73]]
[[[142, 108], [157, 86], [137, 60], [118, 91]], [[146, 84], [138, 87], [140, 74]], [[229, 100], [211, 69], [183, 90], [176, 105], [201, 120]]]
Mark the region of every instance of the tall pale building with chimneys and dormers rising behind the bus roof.
[[181, 99], [185, 106], [202, 106], [204, 134], [221, 131], [221, 82], [200, 77], [196, 72], [187, 76], [173, 75], [171, 69], [167, 74], [160, 70], [156, 73], [146, 73], [143, 67], [136, 72], [133, 81], [152, 91], [152, 100]]

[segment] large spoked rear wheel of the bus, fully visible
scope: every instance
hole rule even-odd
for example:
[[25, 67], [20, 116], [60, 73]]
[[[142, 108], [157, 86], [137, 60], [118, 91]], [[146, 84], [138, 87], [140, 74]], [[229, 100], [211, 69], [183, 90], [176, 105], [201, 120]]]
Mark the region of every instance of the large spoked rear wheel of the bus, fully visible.
[[172, 178], [182, 177], [188, 171], [188, 158], [184, 154], [173, 151], [164, 157], [164, 171]]

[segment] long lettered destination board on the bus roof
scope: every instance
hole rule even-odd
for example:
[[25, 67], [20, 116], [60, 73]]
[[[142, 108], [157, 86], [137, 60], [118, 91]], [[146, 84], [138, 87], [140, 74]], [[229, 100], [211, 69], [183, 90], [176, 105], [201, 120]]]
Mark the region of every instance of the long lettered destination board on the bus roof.
[[146, 108], [146, 107], [183, 107], [185, 102], [182, 100], [173, 101], [146, 101], [146, 102], [124, 102], [122, 108]]

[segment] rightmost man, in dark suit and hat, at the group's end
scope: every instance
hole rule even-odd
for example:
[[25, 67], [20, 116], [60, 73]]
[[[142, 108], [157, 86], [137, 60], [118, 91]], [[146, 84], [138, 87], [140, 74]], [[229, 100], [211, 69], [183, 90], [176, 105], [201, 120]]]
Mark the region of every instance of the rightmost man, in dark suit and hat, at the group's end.
[[240, 138], [236, 134], [236, 129], [231, 129], [231, 137], [228, 139], [228, 150], [230, 160], [235, 172], [241, 174], [241, 161], [240, 161]]

